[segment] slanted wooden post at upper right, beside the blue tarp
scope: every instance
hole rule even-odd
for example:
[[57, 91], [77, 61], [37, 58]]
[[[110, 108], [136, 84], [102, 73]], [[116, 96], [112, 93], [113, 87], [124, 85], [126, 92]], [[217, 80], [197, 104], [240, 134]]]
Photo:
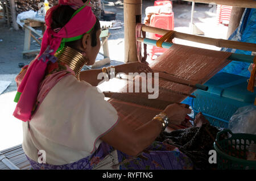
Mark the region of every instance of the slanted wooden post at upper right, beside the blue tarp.
[[231, 16], [229, 20], [229, 29], [228, 29], [227, 39], [229, 38], [230, 35], [232, 35], [232, 33], [239, 26], [242, 15], [243, 15], [243, 11], [245, 11], [245, 9], [242, 7], [232, 7]]

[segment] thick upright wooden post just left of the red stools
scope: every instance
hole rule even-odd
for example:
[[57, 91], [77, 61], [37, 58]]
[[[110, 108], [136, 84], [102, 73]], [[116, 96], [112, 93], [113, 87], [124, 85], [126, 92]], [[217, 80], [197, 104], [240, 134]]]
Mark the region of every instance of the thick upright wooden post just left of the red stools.
[[124, 0], [123, 11], [125, 20], [125, 62], [138, 61], [136, 23], [141, 23], [142, 0]]

